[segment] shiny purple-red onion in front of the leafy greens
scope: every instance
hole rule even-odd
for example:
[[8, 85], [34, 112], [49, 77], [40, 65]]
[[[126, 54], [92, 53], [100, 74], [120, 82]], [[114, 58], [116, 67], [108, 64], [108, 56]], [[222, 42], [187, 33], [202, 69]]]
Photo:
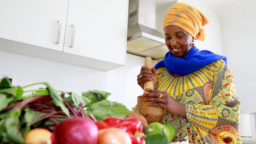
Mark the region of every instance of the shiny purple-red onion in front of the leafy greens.
[[98, 127], [89, 118], [63, 120], [54, 131], [55, 144], [97, 144]]

